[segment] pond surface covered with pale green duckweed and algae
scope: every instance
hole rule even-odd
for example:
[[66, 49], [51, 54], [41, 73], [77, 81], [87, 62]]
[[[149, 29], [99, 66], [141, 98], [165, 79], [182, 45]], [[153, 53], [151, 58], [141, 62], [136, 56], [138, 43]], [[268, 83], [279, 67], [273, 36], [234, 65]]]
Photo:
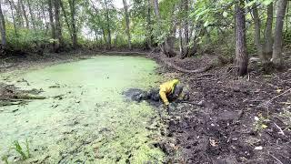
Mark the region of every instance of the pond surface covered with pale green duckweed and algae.
[[[18, 87], [42, 88], [47, 98], [1, 108], [0, 155], [17, 159], [9, 148], [14, 140], [24, 143], [27, 138], [32, 154], [27, 163], [160, 162], [163, 153], [148, 138], [157, 132], [146, 128], [156, 111], [121, 95], [129, 87], [156, 86], [155, 67], [143, 57], [96, 56], [3, 74]], [[22, 78], [29, 86], [16, 82]]]

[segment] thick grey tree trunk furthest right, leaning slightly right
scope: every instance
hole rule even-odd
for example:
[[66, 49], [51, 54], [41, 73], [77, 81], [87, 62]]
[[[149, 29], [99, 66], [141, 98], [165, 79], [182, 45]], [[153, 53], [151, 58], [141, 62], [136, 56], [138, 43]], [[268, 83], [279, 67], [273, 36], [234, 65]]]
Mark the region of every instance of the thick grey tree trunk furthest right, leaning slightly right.
[[283, 48], [283, 25], [284, 16], [286, 14], [287, 0], [279, 0], [276, 13], [276, 26], [274, 34], [274, 50], [272, 55], [272, 63], [275, 67], [282, 67], [282, 48]]

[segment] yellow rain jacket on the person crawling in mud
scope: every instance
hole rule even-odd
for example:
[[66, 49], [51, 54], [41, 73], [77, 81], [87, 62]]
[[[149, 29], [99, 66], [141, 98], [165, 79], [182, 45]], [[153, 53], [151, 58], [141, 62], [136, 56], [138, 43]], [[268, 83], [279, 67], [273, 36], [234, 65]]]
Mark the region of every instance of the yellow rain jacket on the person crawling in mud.
[[174, 92], [174, 89], [178, 83], [179, 83], [179, 80], [174, 79], [172, 81], [168, 81], [166, 83], [163, 83], [160, 86], [159, 94], [160, 94], [160, 97], [162, 98], [162, 100], [164, 101], [165, 105], [170, 104], [166, 96], [168, 96]]

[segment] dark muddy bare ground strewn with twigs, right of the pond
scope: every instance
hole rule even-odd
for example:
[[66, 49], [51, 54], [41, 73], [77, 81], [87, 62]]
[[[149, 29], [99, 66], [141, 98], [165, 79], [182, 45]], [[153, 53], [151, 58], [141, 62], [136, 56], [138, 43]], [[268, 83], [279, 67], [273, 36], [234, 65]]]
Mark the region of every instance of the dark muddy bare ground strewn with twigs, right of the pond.
[[[170, 61], [186, 69], [208, 64], [201, 58]], [[166, 162], [291, 163], [290, 66], [264, 75], [253, 62], [244, 78], [237, 78], [230, 65], [178, 75], [189, 86], [190, 100], [204, 107], [186, 105], [171, 112], [166, 139], [156, 145], [168, 155]]]

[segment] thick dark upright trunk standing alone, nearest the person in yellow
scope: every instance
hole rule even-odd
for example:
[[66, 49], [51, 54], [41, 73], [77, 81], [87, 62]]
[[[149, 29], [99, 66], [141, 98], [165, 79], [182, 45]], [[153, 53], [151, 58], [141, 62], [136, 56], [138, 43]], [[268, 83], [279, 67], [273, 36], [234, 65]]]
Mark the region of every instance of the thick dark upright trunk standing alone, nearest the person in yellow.
[[248, 56], [246, 53], [246, 16], [245, 2], [240, 0], [236, 4], [236, 67], [237, 75], [243, 77], [247, 74]]

